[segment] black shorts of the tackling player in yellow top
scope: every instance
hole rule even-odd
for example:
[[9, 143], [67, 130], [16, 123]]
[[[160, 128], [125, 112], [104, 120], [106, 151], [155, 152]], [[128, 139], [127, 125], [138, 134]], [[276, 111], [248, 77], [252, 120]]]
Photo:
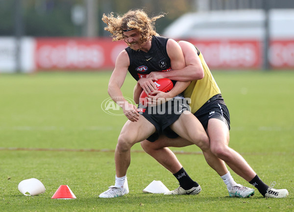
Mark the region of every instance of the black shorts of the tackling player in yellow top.
[[[230, 130], [230, 113], [225, 105], [221, 94], [215, 95], [210, 98], [203, 106], [201, 106], [196, 113], [194, 113], [196, 118], [202, 124], [204, 130], [207, 130], [209, 119], [216, 118], [223, 121], [228, 129]], [[176, 138], [178, 134], [170, 130], [165, 134], [169, 138]]]

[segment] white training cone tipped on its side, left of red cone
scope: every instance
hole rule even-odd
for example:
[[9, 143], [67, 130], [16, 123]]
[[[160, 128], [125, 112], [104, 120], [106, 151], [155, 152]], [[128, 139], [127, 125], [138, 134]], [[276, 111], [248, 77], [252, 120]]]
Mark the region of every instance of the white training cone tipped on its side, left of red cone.
[[34, 196], [45, 192], [45, 186], [36, 178], [23, 180], [19, 183], [18, 189], [25, 196]]

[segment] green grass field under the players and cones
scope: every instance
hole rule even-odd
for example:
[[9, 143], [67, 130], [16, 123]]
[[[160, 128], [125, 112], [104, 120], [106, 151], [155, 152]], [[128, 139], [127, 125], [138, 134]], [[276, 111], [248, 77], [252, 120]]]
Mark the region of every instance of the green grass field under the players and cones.
[[[230, 110], [230, 146], [265, 183], [276, 181], [276, 188], [287, 188], [290, 194], [285, 199], [265, 199], [257, 189], [248, 199], [230, 198], [196, 146], [172, 150], [201, 185], [199, 195], [143, 193], [153, 180], [171, 190], [178, 185], [140, 144], [132, 148], [130, 193], [98, 198], [114, 184], [113, 150], [126, 121], [101, 109], [108, 98], [110, 74], [0, 75], [0, 211], [294, 211], [294, 72], [213, 72]], [[134, 85], [128, 76], [123, 86], [126, 97], [132, 98]], [[253, 187], [231, 174], [238, 183]], [[46, 192], [19, 192], [18, 184], [29, 178], [39, 179]], [[51, 199], [59, 185], [69, 185], [77, 198]]]

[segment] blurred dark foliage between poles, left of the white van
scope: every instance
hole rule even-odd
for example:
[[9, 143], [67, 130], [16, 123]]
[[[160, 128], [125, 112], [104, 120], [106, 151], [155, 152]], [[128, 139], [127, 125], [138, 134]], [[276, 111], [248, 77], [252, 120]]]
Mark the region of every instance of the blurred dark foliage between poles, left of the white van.
[[[16, 4], [21, 4], [22, 33], [25, 36], [85, 36], [85, 17], [80, 23], [73, 21], [73, 8], [82, 8], [87, 14], [88, 0], [0, 0], [0, 36], [15, 34]], [[91, 1], [91, 0], [90, 0]], [[107, 36], [102, 14], [123, 14], [129, 9], [144, 9], [148, 15], [167, 13], [156, 22], [159, 33], [182, 14], [195, 10], [195, 0], [92, 0], [96, 35]]]

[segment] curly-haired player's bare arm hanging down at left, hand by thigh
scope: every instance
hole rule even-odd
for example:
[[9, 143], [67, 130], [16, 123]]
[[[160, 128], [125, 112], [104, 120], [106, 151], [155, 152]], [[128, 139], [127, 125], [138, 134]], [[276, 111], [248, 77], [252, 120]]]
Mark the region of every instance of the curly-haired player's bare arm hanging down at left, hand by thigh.
[[137, 121], [139, 119], [138, 108], [127, 102], [121, 91], [128, 66], [129, 58], [127, 53], [123, 50], [117, 57], [115, 68], [110, 77], [108, 83], [108, 94], [115, 103], [122, 107], [124, 115], [130, 121]]

